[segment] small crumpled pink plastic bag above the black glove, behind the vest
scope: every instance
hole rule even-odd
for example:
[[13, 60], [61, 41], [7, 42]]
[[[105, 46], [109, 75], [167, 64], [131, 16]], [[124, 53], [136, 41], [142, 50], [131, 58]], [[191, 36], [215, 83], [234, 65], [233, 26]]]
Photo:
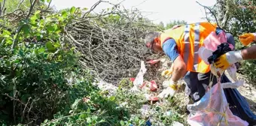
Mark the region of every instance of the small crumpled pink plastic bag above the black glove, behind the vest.
[[[218, 35], [215, 33], [215, 31], [212, 31], [211, 34], [206, 37], [203, 43], [206, 49], [210, 49], [214, 52], [217, 49], [218, 45], [220, 45], [221, 43], [227, 43], [227, 37], [224, 31], [221, 31], [221, 33], [219, 33]], [[229, 43], [229, 45], [231, 49], [234, 48], [232, 44]]]

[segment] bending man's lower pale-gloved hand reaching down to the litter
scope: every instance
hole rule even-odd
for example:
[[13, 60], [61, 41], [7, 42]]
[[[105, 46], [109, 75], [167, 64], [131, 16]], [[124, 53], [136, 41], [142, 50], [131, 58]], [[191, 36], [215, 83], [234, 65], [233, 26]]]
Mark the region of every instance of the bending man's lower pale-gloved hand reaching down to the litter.
[[177, 85], [178, 82], [170, 81], [169, 86], [163, 90], [159, 95], [158, 98], [167, 98], [168, 96], [172, 97], [178, 92], [179, 86]]

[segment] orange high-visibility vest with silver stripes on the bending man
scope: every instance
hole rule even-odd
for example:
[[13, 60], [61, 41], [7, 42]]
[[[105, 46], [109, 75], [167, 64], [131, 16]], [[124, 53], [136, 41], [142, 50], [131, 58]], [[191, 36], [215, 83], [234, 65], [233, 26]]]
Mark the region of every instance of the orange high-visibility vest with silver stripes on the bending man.
[[173, 38], [178, 52], [187, 65], [187, 71], [207, 73], [210, 65], [201, 60], [198, 50], [203, 46], [203, 40], [216, 30], [217, 25], [212, 23], [193, 23], [175, 29], [168, 29], [161, 33], [161, 46], [168, 38]]

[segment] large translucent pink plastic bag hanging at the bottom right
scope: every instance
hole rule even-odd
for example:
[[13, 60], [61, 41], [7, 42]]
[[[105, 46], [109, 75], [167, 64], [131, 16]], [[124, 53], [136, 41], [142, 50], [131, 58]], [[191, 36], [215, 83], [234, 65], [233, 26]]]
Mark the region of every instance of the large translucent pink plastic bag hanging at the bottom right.
[[[220, 81], [219, 81], [220, 82]], [[217, 83], [200, 101], [187, 105], [190, 111], [187, 123], [192, 126], [236, 125], [247, 126], [248, 122], [233, 115], [221, 83]]]

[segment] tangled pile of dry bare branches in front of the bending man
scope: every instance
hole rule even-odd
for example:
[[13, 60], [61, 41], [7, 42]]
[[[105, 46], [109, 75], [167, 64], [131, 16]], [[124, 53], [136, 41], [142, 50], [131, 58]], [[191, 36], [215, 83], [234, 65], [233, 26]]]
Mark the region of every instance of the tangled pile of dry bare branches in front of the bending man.
[[[82, 53], [81, 64], [102, 80], [118, 83], [122, 78], [136, 77], [141, 61], [157, 58], [144, 44], [145, 32], [157, 28], [146, 23], [139, 11], [120, 10], [114, 5], [99, 15], [84, 15], [67, 28], [66, 40]], [[154, 76], [156, 72], [150, 67], [147, 74]]]

